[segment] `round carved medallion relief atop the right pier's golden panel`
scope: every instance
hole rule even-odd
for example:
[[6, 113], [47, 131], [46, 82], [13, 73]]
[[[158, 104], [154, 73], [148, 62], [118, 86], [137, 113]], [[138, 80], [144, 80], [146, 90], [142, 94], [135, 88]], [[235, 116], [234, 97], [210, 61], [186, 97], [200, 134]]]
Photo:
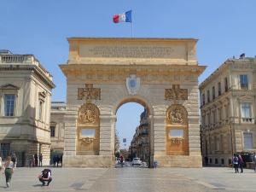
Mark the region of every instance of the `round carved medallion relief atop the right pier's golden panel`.
[[167, 121], [171, 125], [187, 125], [188, 113], [182, 105], [173, 104], [166, 112]]

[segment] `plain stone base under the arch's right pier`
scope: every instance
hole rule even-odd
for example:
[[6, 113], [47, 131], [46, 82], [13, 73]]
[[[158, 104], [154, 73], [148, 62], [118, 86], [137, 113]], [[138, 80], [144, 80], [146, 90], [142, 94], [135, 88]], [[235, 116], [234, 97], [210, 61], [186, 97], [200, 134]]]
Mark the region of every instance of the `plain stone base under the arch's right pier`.
[[160, 167], [202, 167], [201, 155], [154, 155]]

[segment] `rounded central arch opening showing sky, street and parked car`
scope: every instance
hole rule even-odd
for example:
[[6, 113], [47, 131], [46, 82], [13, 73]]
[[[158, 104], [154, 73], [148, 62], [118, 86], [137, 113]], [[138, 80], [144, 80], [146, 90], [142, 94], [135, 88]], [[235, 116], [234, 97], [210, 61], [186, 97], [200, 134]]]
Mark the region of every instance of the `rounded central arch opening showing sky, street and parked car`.
[[[150, 159], [149, 107], [139, 99], [126, 99], [115, 111], [115, 157], [116, 167], [148, 167]], [[123, 159], [125, 161], [120, 162]], [[137, 159], [138, 158], [138, 159]]]

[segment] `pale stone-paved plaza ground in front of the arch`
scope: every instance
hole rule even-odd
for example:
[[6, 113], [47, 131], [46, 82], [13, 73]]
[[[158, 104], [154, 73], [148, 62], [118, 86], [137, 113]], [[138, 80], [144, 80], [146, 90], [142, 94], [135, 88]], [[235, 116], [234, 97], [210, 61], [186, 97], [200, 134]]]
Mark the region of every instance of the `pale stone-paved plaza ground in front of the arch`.
[[195, 168], [52, 168], [49, 187], [38, 182], [41, 168], [17, 168], [9, 189], [0, 177], [0, 192], [221, 192], [255, 191], [256, 173], [226, 167]]

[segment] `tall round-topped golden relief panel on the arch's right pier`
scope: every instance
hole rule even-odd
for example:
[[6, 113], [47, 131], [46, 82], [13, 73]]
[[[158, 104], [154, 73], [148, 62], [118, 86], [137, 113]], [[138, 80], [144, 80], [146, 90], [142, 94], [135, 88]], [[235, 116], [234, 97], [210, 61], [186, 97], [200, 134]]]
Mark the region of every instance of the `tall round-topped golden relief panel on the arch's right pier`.
[[173, 104], [166, 111], [166, 153], [189, 155], [188, 113], [182, 105]]

